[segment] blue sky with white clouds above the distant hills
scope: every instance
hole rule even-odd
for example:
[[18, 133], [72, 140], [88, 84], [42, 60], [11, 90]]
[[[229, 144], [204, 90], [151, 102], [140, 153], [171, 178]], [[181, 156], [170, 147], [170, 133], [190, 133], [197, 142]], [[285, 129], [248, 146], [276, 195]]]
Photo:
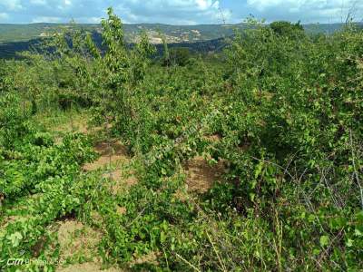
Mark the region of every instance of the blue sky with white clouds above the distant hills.
[[235, 24], [249, 15], [339, 23], [349, 12], [363, 19], [363, 0], [0, 0], [0, 23], [99, 23], [108, 6], [124, 23]]

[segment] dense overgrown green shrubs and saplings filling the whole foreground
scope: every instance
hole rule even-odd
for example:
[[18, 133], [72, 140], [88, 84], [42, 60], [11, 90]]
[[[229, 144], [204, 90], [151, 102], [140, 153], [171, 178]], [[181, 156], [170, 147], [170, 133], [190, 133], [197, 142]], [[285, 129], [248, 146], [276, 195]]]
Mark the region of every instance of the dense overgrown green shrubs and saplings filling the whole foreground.
[[[361, 270], [362, 31], [250, 19], [160, 62], [108, 15], [104, 51], [68, 29], [0, 67], [1, 269]], [[91, 256], [64, 257], [69, 220], [99, 234]]]

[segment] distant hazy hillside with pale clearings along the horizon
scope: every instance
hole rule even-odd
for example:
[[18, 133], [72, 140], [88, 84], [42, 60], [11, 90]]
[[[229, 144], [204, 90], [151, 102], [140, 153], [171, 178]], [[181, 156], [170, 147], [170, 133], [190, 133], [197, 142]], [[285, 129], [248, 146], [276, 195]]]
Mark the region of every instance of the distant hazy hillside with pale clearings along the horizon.
[[[363, 24], [360, 24], [363, 27]], [[341, 29], [344, 24], [305, 24], [309, 33], [331, 34]], [[189, 47], [193, 51], [210, 52], [223, 47], [223, 38], [234, 34], [236, 29], [245, 29], [247, 24], [123, 24], [126, 42], [136, 43], [142, 31], [145, 31], [152, 44], [162, 50], [163, 34], [171, 47]], [[17, 52], [36, 48], [43, 38], [60, 32], [64, 28], [77, 28], [93, 33], [100, 43], [102, 27], [100, 24], [0, 24], [0, 58], [13, 58]], [[158, 45], [159, 44], [159, 45]]]

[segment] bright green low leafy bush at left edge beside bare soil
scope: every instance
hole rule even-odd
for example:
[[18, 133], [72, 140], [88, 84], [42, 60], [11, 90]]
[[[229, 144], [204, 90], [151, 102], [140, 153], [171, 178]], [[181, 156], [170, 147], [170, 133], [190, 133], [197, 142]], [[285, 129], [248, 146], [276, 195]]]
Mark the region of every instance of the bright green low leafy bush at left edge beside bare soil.
[[[14, 111], [9, 103], [4, 109], [5, 113]], [[5, 260], [0, 267], [11, 270], [15, 267], [6, 267], [6, 260], [31, 258], [34, 248], [46, 249], [51, 244], [48, 226], [79, 208], [74, 189], [80, 186], [81, 165], [94, 160], [95, 154], [82, 134], [66, 135], [55, 144], [51, 134], [35, 131], [23, 118], [6, 117], [12, 122], [6, 123], [6, 129], [1, 127], [1, 132], [13, 138], [11, 146], [0, 148], [0, 214], [2, 220], [15, 220], [5, 226], [0, 221], [0, 258]]]

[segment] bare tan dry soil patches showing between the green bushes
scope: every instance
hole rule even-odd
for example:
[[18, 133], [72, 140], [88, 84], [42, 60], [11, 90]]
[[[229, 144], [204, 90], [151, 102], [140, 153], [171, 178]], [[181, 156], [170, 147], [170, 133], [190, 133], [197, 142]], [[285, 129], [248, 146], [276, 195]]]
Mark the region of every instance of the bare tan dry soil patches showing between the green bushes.
[[[95, 131], [91, 131], [87, 126], [80, 122], [75, 124], [77, 131], [91, 134]], [[69, 130], [69, 124], [64, 125], [66, 131]], [[72, 131], [74, 131], [74, 124], [72, 125]], [[211, 142], [221, 141], [221, 137], [218, 135], [207, 136]], [[108, 180], [109, 188], [114, 194], [124, 192], [125, 188], [137, 183], [137, 179], [134, 176], [132, 170], [128, 170], [127, 165], [131, 158], [127, 149], [120, 141], [101, 141], [94, 146], [94, 150], [99, 153], [98, 160], [92, 163], [83, 165], [84, 171], [96, 171], [104, 170], [102, 178]], [[216, 165], [210, 166], [207, 160], [204, 160], [201, 156], [195, 157], [193, 160], [189, 160], [183, 165], [183, 170], [186, 174], [186, 187], [187, 190], [180, 192], [182, 199], [188, 199], [188, 192], [203, 193], [211, 189], [213, 183], [221, 178], [224, 172], [223, 162], [219, 161]], [[117, 212], [124, 215], [127, 210], [123, 207], [118, 207]], [[95, 215], [99, 217], [99, 215]], [[102, 270], [102, 260], [94, 257], [94, 252], [97, 252], [97, 245], [102, 238], [102, 233], [97, 230], [84, 226], [81, 222], [72, 220], [64, 220], [59, 222], [58, 240], [61, 245], [61, 260], [71, 259], [74, 262], [77, 261], [77, 257], [85, 257], [88, 262], [83, 264], [75, 264], [68, 267], [58, 267], [57, 271], [61, 272], [95, 272], [95, 271], [125, 271], [119, 268], [109, 268]], [[156, 262], [157, 254], [152, 253], [143, 257], [135, 257], [135, 259], [129, 264], [130, 267], [142, 263]]]

